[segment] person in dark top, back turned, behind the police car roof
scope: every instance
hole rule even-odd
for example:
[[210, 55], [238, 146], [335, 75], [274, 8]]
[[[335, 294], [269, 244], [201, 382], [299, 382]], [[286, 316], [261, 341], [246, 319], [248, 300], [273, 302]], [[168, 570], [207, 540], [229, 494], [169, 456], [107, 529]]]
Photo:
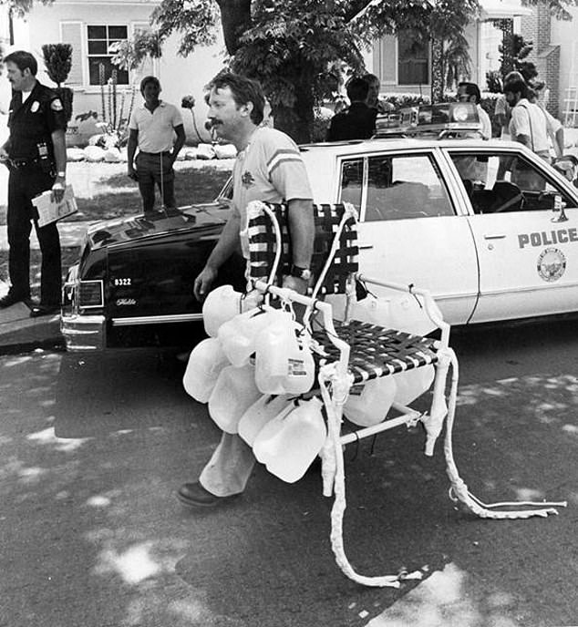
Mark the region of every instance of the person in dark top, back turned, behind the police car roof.
[[376, 132], [377, 108], [366, 105], [369, 87], [363, 78], [351, 78], [347, 83], [349, 108], [331, 118], [327, 141], [369, 139]]

